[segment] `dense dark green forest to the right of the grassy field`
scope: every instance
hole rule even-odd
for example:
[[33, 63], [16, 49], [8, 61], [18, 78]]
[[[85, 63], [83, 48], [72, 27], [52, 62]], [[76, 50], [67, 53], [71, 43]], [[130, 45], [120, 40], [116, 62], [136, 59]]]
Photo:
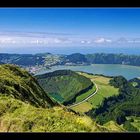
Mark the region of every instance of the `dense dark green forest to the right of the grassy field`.
[[123, 124], [126, 130], [136, 131], [126, 117], [140, 116], [140, 89], [137, 86], [140, 80], [127, 81], [124, 77], [117, 76], [110, 80], [110, 84], [119, 88], [119, 95], [105, 99], [101, 106], [90, 110], [87, 115], [96, 118], [100, 124], [114, 120], [119, 125]]

